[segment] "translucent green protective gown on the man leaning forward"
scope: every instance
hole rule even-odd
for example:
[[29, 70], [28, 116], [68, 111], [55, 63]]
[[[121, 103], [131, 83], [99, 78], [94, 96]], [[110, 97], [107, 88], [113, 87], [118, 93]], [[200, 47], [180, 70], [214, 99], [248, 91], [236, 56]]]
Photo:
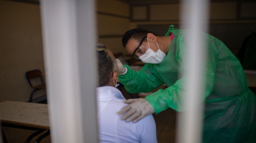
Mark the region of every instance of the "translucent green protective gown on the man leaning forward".
[[[185, 39], [189, 30], [170, 26], [167, 34], [175, 35], [166, 58], [160, 64], [146, 63], [140, 71], [129, 66], [127, 73], [119, 75], [120, 82], [130, 93], [148, 93], [162, 84], [168, 88], [158, 90], [145, 99], [156, 114], [172, 108], [183, 111], [181, 97], [186, 78], [187, 50]], [[239, 60], [217, 38], [204, 33], [207, 39], [207, 59], [201, 72], [205, 76], [203, 142], [256, 142], [256, 97], [248, 83]], [[178, 73], [182, 76], [178, 76]]]

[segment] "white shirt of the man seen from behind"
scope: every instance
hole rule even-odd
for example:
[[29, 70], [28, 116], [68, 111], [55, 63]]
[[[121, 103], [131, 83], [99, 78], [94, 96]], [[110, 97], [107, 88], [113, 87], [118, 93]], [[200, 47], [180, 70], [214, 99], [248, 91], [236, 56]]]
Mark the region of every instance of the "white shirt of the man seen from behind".
[[97, 88], [100, 142], [157, 142], [156, 123], [148, 115], [137, 123], [121, 120], [117, 112], [127, 104], [122, 93], [110, 86]]

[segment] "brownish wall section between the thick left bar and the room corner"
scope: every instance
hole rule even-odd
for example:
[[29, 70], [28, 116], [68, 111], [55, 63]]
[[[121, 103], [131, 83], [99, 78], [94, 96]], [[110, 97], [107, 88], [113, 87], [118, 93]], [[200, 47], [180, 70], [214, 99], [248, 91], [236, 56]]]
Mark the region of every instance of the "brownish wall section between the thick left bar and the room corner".
[[114, 0], [98, 0], [99, 43], [113, 53], [127, 53], [122, 46], [122, 36], [130, 29], [130, 6]]

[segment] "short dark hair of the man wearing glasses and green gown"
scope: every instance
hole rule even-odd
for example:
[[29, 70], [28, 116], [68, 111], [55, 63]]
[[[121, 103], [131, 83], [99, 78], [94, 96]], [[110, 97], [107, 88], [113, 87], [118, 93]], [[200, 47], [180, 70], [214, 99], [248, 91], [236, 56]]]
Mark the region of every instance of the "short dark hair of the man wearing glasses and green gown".
[[[124, 35], [123, 35], [123, 39], [122, 39], [122, 44], [123, 47], [125, 48], [127, 42], [133, 38], [135, 40], [137, 40], [138, 42], [140, 42], [142, 40], [143, 37], [145, 37], [148, 33], [152, 33], [155, 36], [159, 36], [153, 32], [147, 31], [147, 30], [143, 30], [141, 28], [135, 28], [132, 30], [127, 31]], [[146, 38], [144, 39], [144, 41], [146, 41]]]

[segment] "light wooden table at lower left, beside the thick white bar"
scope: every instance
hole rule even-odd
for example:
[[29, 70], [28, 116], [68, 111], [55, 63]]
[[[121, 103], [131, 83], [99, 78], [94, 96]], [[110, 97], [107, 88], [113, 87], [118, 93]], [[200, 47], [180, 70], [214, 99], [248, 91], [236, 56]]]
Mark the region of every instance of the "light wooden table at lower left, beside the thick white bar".
[[[0, 121], [3, 126], [8, 127], [23, 128], [30, 130], [43, 129], [40, 130], [38, 134], [41, 133], [42, 131], [50, 130], [47, 104], [16, 101], [1, 102]], [[49, 134], [50, 132], [48, 134], [45, 134], [42, 138], [46, 137]], [[31, 136], [29, 136], [29, 138], [32, 139], [34, 136], [36, 135], [32, 134]]]

